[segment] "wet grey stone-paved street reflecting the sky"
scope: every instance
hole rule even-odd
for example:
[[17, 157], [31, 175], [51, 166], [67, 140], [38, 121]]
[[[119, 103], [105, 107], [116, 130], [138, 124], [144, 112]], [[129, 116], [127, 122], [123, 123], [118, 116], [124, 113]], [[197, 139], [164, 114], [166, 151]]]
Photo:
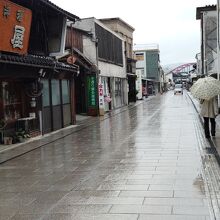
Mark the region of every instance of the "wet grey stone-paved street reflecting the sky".
[[218, 219], [199, 123], [187, 93], [168, 92], [5, 162], [0, 219]]

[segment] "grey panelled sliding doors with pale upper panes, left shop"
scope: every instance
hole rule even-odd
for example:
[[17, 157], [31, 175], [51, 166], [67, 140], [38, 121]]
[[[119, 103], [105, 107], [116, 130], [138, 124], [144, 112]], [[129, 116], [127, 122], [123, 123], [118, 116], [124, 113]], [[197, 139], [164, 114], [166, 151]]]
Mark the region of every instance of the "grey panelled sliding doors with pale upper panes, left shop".
[[72, 124], [71, 79], [43, 79], [43, 133]]

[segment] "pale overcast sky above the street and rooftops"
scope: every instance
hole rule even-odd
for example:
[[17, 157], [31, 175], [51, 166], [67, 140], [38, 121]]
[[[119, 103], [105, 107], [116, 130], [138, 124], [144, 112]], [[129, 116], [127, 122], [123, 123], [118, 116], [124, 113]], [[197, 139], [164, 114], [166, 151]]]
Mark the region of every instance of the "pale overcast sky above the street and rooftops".
[[217, 0], [51, 0], [80, 17], [120, 17], [135, 31], [135, 44], [156, 43], [162, 65], [195, 62], [200, 52], [200, 21], [196, 7]]

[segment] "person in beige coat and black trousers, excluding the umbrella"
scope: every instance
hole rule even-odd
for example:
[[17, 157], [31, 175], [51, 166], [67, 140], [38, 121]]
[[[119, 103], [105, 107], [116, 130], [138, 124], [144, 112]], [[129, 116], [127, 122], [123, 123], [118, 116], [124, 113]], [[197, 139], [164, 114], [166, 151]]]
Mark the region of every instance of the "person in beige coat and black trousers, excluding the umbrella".
[[217, 97], [214, 97], [210, 100], [202, 99], [200, 100], [200, 104], [200, 114], [204, 120], [205, 137], [210, 138], [209, 123], [211, 123], [211, 135], [214, 137], [216, 128], [215, 118], [218, 115]]

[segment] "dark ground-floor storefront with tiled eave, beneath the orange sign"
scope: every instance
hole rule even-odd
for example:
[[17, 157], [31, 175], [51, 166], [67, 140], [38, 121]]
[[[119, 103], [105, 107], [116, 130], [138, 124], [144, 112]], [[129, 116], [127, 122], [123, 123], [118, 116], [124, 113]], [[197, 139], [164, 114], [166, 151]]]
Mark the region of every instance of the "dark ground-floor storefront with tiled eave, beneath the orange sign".
[[42, 66], [42, 60], [26, 56], [23, 62], [22, 57], [12, 55], [0, 59], [0, 120], [6, 137], [16, 139], [21, 129], [33, 137], [75, 123], [73, 75], [77, 66], [59, 67], [52, 59]]

